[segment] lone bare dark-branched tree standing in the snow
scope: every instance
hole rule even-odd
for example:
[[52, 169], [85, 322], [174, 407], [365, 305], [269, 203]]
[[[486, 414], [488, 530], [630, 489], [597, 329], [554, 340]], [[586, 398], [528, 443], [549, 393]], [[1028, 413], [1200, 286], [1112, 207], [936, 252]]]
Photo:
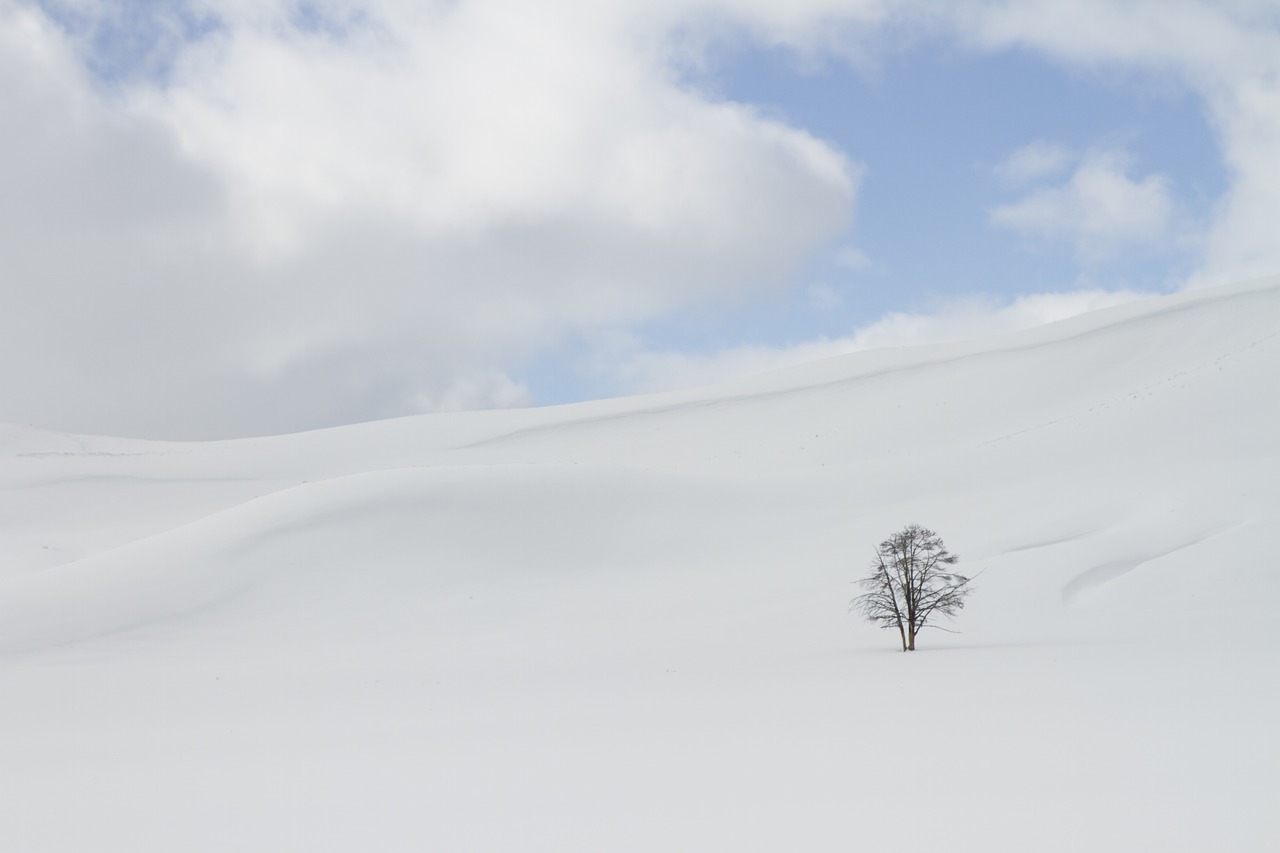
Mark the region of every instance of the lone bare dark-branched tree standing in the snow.
[[879, 543], [872, 574], [858, 581], [867, 592], [849, 608], [881, 628], [896, 628], [902, 651], [914, 652], [915, 635], [929, 619], [955, 616], [964, 607], [969, 578], [951, 570], [959, 561], [937, 533], [908, 525]]

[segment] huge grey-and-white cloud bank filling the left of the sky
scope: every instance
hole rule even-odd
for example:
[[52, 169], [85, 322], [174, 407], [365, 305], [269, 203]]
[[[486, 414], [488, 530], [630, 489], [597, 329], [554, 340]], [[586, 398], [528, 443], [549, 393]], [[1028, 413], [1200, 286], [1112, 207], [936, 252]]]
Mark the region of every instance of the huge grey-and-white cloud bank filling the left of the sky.
[[0, 5], [0, 418], [201, 438], [521, 403], [539, 347], [777, 287], [847, 223], [847, 158], [575, 6], [216, 4], [163, 82], [108, 88]]

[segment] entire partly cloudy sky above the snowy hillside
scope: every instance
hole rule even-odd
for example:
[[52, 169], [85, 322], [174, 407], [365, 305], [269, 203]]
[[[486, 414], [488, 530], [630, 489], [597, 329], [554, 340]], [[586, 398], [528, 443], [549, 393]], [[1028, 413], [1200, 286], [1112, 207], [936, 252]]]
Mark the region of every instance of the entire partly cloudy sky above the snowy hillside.
[[0, 421], [662, 391], [1280, 273], [1280, 5], [0, 0]]

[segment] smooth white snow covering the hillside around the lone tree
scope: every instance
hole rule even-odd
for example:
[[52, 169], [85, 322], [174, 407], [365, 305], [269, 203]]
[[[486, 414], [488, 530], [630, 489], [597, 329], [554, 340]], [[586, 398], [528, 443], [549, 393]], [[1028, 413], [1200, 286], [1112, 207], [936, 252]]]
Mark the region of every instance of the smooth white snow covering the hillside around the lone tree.
[[[0, 426], [3, 850], [1280, 849], [1280, 279], [214, 443]], [[922, 651], [881, 539], [980, 573]]]

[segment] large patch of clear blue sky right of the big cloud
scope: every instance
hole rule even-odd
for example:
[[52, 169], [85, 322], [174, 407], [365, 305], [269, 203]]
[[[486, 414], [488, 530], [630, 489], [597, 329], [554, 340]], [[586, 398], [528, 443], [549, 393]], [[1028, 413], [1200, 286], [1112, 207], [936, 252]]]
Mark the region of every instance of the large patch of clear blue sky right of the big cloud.
[[[865, 274], [826, 277], [861, 304], [854, 321], [933, 297], [1012, 296], [1071, 287], [1083, 272], [1064, 246], [992, 227], [1010, 200], [996, 167], [1046, 140], [1078, 151], [1129, 150], [1142, 172], [1171, 178], [1189, 215], [1204, 216], [1225, 188], [1197, 99], [1176, 86], [1066, 69], [1024, 51], [974, 54], [927, 42], [891, 55], [873, 74], [827, 63], [804, 73], [786, 55], [753, 54], [726, 72], [723, 91], [832, 141], [864, 164], [859, 216], [847, 242]], [[1088, 270], [1106, 286], [1160, 288], [1187, 259], [1175, 247], [1128, 254]]]

